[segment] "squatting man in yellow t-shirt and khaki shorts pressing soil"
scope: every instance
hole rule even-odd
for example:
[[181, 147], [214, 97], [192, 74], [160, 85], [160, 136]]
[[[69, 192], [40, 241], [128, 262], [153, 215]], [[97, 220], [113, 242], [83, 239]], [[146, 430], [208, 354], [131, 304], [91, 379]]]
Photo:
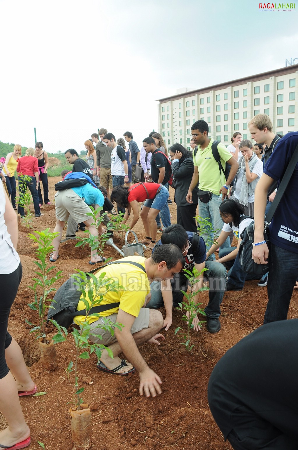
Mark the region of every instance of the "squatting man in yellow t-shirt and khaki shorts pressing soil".
[[[127, 264], [125, 263], [127, 261]], [[136, 266], [128, 261], [136, 263]], [[105, 294], [101, 305], [119, 302], [119, 306], [101, 312], [101, 317], [90, 316], [92, 342], [104, 344], [112, 351], [111, 358], [106, 350], [102, 351], [98, 361], [98, 369], [110, 374], [128, 375], [137, 370], [140, 375], [140, 395], [155, 397], [161, 394], [161, 379], [153, 370], [149, 369], [145, 360], [140, 355], [138, 345], [151, 342], [160, 345], [158, 338], [164, 339], [162, 334], [157, 334], [163, 326], [160, 311], [145, 308], [150, 300], [150, 286], [153, 280], [172, 279], [184, 266], [185, 260], [179, 247], [174, 244], [166, 244], [159, 247], [149, 259], [143, 257], [127, 257], [119, 260], [121, 264], [111, 264], [103, 270], [106, 278], [118, 281], [123, 288], [117, 292]], [[97, 276], [100, 275], [100, 271]], [[85, 309], [80, 300], [78, 310]], [[122, 324], [121, 329], [114, 328], [114, 336], [102, 328], [102, 317], [113, 323]], [[83, 316], [76, 316], [74, 322], [79, 324], [84, 320]], [[101, 340], [95, 335], [101, 335]], [[123, 352], [130, 362], [118, 357]]]

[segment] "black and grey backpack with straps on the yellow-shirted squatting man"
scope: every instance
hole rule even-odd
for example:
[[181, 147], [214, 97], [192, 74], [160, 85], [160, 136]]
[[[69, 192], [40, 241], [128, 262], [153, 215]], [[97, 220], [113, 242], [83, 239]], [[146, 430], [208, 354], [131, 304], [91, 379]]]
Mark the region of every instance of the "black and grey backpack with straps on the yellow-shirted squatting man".
[[[121, 264], [128, 263], [133, 264], [136, 267], [139, 267], [145, 272], [144, 267], [135, 261], [112, 261], [109, 264], [105, 264], [104, 266], [98, 267], [97, 269], [91, 270], [88, 272], [89, 274], [94, 274], [98, 270], [103, 269], [106, 266], [110, 266], [111, 264]], [[145, 272], [146, 273], [146, 272]], [[86, 274], [87, 275], [87, 274]], [[54, 295], [53, 302], [48, 310], [48, 320], [50, 319], [56, 320], [57, 324], [61, 327], [65, 327], [68, 329], [70, 325], [73, 323], [73, 318], [76, 315], [86, 315], [86, 310], [77, 310], [79, 299], [82, 293], [74, 288], [73, 285], [74, 278], [71, 276], [65, 283], [57, 289], [56, 294]], [[107, 311], [112, 308], [116, 308], [119, 306], [120, 302], [117, 303], [109, 303], [106, 305], [93, 306], [89, 311], [88, 315], [98, 314], [102, 311]]]

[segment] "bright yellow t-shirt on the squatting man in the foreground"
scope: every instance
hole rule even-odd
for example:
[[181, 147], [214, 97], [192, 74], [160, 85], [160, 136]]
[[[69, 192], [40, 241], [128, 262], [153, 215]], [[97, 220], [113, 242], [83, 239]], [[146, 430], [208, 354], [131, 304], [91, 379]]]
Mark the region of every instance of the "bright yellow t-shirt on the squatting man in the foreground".
[[[101, 317], [106, 317], [117, 313], [119, 308], [128, 314], [137, 317], [140, 313], [141, 307], [144, 306], [146, 295], [150, 292], [149, 279], [144, 270], [134, 266], [133, 264], [129, 264], [128, 262], [125, 264], [124, 261], [137, 262], [145, 268], [145, 258], [131, 256], [119, 259], [118, 261], [121, 261], [121, 264], [111, 264], [110, 266], [104, 267], [102, 271], [106, 274], [105, 278], [112, 278], [114, 281], [118, 281], [119, 285], [123, 287], [120, 288], [118, 292], [106, 293], [104, 299], [98, 303], [98, 305], [120, 302], [120, 306], [107, 311], [102, 311], [100, 313]], [[98, 278], [100, 273], [101, 270], [99, 270], [95, 276]], [[104, 288], [104, 291], [105, 290], [106, 289]], [[78, 311], [85, 309], [85, 305], [82, 300], [79, 301], [77, 309]], [[74, 317], [75, 324], [79, 324], [80, 321], [84, 320], [85, 316], [82, 315], [77, 315]], [[92, 322], [95, 322], [96, 320], [98, 320], [97, 317], [90, 316], [88, 323], [92, 324]]]

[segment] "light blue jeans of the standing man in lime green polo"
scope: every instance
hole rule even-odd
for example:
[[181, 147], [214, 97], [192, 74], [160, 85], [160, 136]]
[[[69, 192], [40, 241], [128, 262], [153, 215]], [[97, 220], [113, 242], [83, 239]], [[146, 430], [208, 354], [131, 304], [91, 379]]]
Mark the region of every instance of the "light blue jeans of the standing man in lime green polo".
[[[209, 202], [207, 203], [203, 203], [201, 202], [201, 200], [199, 200], [199, 216], [202, 217], [202, 219], [209, 219], [209, 221], [212, 223], [213, 225], [213, 229], [218, 230], [216, 231], [216, 234], [213, 233], [207, 233], [207, 234], [202, 234], [202, 238], [204, 239], [204, 241], [206, 242], [208, 237], [210, 237], [210, 239], [212, 239], [211, 243], [208, 243], [206, 245], [206, 249], [209, 250], [209, 248], [211, 247], [211, 245], [214, 242], [214, 238], [218, 237], [222, 228], [223, 228], [223, 221], [220, 217], [219, 214], [219, 195], [215, 195], [212, 194], [212, 198], [211, 200], [209, 200]], [[224, 243], [222, 244], [221, 247], [219, 247], [219, 249], [222, 248], [226, 248], [226, 247], [230, 247], [230, 238], [228, 237]], [[209, 258], [209, 261], [214, 261], [215, 260], [215, 255], [212, 254]]]

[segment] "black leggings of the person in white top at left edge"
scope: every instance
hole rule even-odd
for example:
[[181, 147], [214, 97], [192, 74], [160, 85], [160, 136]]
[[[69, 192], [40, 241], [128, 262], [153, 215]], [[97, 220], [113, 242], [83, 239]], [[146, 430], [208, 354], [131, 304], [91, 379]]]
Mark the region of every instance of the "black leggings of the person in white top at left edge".
[[9, 373], [5, 360], [5, 349], [11, 344], [11, 336], [7, 331], [11, 305], [18, 292], [22, 279], [22, 264], [11, 274], [0, 274], [1, 308], [0, 308], [0, 379]]

